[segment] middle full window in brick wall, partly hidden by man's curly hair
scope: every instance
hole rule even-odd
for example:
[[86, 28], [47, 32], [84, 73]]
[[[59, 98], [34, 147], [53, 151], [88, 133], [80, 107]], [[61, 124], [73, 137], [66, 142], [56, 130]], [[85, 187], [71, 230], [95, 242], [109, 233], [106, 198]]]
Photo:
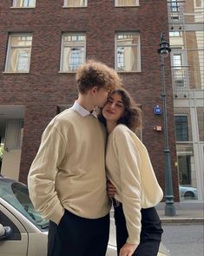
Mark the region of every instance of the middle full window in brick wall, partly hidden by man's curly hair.
[[82, 34], [63, 34], [61, 71], [75, 72], [85, 62], [85, 39]]

